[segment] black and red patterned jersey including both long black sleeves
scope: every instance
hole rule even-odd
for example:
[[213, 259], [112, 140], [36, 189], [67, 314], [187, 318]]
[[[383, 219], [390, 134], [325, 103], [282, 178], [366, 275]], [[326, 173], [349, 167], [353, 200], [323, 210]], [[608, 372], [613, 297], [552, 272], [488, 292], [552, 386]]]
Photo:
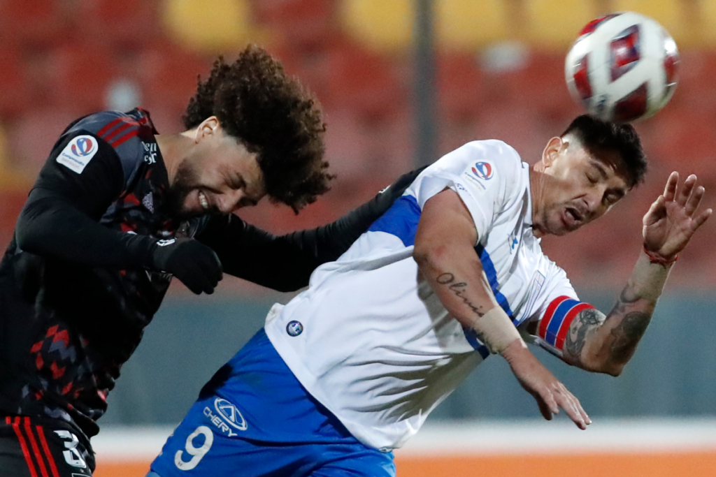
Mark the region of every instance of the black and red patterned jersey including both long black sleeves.
[[419, 172], [332, 224], [276, 237], [235, 215], [172, 220], [155, 134], [142, 109], [100, 112], [70, 124], [54, 145], [0, 262], [0, 413], [98, 432], [107, 393], [171, 280], [144, 266], [160, 240], [194, 237], [224, 272], [297, 290]]

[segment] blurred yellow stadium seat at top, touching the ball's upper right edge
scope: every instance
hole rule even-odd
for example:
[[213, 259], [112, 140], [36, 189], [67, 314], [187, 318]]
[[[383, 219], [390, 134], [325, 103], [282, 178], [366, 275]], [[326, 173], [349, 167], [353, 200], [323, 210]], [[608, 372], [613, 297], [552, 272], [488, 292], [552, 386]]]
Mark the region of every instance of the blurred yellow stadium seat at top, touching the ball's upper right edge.
[[[710, 1], [700, 3], [712, 3]], [[614, 0], [614, 11], [636, 11], [664, 26], [677, 45], [691, 45], [700, 34], [692, 24], [686, 0]]]

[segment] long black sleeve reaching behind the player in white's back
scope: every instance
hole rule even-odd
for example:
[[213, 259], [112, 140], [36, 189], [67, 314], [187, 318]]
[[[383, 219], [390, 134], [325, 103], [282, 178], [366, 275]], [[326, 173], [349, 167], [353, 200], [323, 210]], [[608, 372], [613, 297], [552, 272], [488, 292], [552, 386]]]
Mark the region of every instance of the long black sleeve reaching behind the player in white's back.
[[196, 238], [216, 252], [224, 272], [282, 292], [298, 290], [308, 285], [316, 267], [348, 250], [420, 171], [403, 175], [369, 202], [316, 229], [276, 237], [236, 216], [212, 217]]

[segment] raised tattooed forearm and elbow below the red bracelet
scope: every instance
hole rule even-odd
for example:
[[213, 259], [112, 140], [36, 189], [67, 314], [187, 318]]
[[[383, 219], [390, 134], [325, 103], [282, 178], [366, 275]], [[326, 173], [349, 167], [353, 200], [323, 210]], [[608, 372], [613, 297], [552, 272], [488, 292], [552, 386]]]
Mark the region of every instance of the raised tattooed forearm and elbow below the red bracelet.
[[573, 364], [619, 375], [649, 326], [670, 268], [669, 264], [650, 262], [642, 252], [606, 317], [596, 310], [577, 315], [565, 343], [566, 353], [574, 358]]

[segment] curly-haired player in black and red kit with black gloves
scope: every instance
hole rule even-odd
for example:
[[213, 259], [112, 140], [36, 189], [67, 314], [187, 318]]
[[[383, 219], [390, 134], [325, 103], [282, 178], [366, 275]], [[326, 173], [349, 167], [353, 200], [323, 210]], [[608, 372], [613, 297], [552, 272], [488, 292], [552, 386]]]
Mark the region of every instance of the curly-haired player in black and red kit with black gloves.
[[328, 190], [316, 101], [265, 51], [219, 59], [163, 136], [149, 114], [99, 112], [64, 130], [0, 263], [0, 469], [89, 476], [89, 437], [173, 276], [211, 293], [226, 272], [308, 284], [415, 173], [316, 230], [274, 237], [231, 212], [265, 195], [298, 212]]

